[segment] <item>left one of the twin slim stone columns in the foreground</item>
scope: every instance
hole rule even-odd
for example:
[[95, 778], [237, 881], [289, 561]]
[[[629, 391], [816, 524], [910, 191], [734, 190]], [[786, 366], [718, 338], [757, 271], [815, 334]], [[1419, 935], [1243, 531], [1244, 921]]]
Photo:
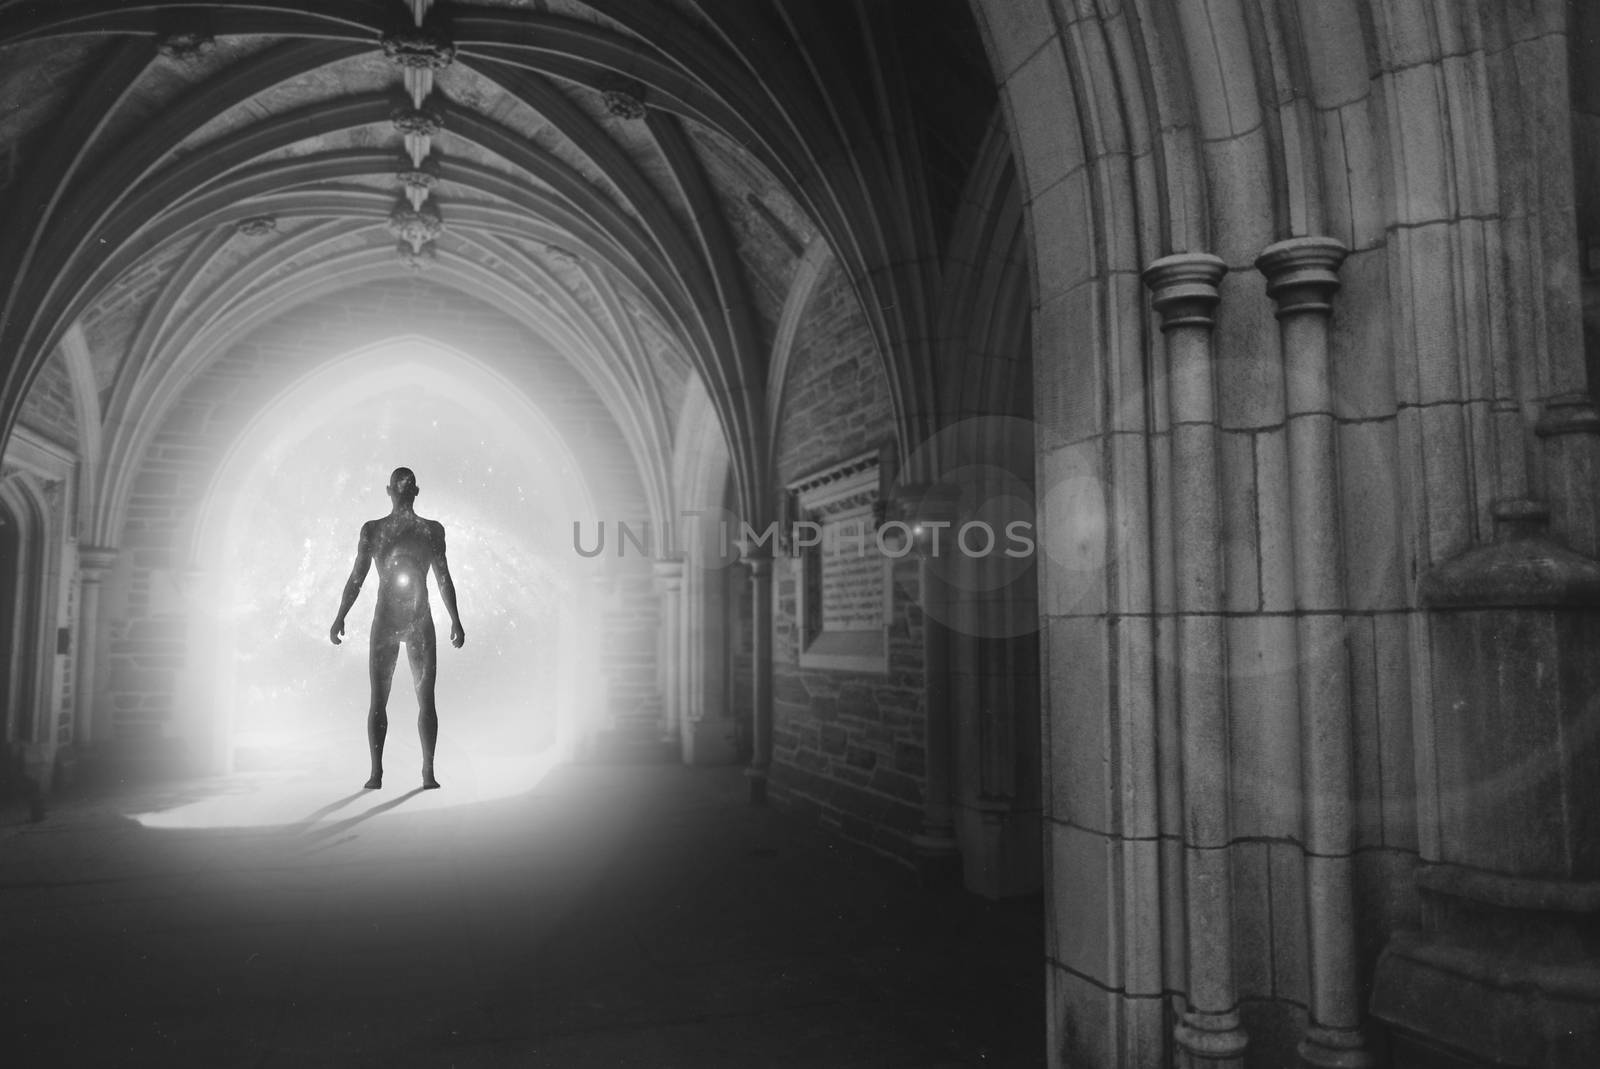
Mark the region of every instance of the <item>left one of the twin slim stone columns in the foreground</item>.
[[1178, 586], [1178, 715], [1182, 757], [1187, 1008], [1173, 1031], [1184, 1066], [1238, 1069], [1248, 1043], [1234, 975], [1229, 821], [1227, 640], [1218, 459], [1218, 283], [1206, 253], [1165, 256], [1144, 272], [1166, 336]]

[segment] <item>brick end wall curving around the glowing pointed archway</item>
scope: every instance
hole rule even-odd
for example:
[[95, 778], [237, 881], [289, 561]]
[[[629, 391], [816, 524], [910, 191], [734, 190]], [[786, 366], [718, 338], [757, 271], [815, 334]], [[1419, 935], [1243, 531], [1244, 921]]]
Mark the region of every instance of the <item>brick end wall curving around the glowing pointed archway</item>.
[[[363, 286], [301, 306], [214, 360], [184, 390], [144, 458], [122, 531], [123, 551], [106, 591], [110, 704], [118, 738], [168, 733], [179, 703], [186, 623], [171, 597], [171, 575], [187, 567], [190, 533], [213, 475], [259, 406], [328, 358], [400, 334], [422, 334], [494, 366], [538, 400], [573, 454], [600, 515], [643, 523], [638, 472], [600, 397], [562, 357], [520, 325], [462, 294], [411, 278]], [[616, 565], [618, 562], [610, 562]], [[621, 562], [630, 632], [653, 634], [642, 619], [653, 602], [626, 597], [650, 584], [648, 562]], [[618, 648], [640, 645], [626, 635]], [[654, 679], [654, 664], [627, 672]], [[621, 688], [618, 693], [630, 693]]]

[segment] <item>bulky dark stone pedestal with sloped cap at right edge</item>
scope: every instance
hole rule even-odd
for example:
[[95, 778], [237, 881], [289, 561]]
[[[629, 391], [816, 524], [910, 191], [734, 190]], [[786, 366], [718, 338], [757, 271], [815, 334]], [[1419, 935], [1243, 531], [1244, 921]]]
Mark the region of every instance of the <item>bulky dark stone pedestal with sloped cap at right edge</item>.
[[1539, 502], [1493, 514], [1419, 587], [1442, 802], [1373, 981], [1397, 1069], [1600, 1066], [1600, 562]]

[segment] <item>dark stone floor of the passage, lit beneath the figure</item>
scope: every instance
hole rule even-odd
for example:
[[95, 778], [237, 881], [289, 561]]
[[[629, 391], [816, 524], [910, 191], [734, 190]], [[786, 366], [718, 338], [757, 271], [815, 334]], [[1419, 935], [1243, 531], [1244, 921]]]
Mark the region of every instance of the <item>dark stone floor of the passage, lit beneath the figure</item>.
[[450, 787], [280, 775], [6, 810], [0, 1061], [1043, 1064], [1037, 899], [920, 888], [744, 805], [738, 770]]

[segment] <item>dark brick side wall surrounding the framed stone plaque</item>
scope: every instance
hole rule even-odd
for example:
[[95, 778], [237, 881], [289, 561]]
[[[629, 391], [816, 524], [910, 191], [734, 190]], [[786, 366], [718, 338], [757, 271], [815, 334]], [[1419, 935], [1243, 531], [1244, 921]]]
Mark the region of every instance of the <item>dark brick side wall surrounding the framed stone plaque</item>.
[[[802, 317], [778, 429], [779, 485], [893, 438], [888, 381], [843, 275]], [[797, 560], [774, 565], [774, 803], [850, 839], [910, 853], [922, 823], [923, 663], [917, 563], [893, 570], [888, 674], [800, 667]]]

